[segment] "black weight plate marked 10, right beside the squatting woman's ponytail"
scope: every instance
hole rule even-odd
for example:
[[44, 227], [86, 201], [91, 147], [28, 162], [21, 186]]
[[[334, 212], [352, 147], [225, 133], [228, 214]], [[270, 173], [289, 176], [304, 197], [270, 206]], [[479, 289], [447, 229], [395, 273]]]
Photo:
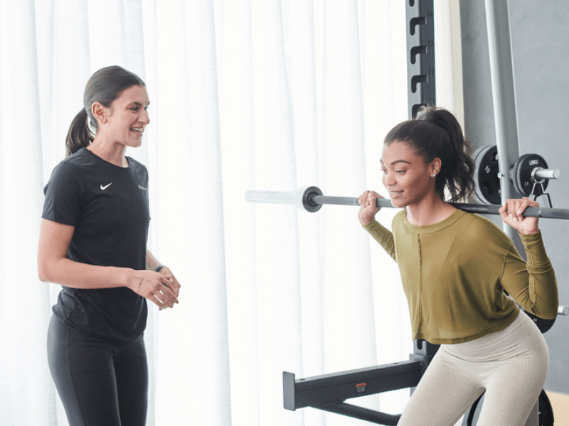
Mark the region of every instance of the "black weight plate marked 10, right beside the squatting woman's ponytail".
[[474, 182], [479, 202], [501, 204], [500, 179], [498, 177], [498, 147], [482, 146], [474, 152]]

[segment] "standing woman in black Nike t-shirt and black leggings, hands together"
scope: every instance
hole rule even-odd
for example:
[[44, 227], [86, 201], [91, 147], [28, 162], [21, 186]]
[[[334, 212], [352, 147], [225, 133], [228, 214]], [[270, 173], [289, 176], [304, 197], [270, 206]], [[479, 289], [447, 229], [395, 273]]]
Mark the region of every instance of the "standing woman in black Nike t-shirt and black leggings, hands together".
[[44, 192], [38, 275], [62, 285], [48, 332], [50, 371], [71, 426], [144, 425], [147, 302], [180, 285], [147, 250], [147, 168], [126, 156], [149, 124], [144, 82], [95, 72]]

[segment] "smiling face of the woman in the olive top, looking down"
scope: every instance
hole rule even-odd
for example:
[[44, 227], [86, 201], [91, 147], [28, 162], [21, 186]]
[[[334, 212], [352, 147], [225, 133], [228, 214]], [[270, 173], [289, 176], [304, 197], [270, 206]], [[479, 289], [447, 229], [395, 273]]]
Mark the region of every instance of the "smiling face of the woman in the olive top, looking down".
[[389, 191], [394, 207], [420, 203], [427, 195], [435, 195], [435, 177], [440, 171], [440, 159], [425, 163], [421, 155], [405, 142], [395, 141], [383, 146], [381, 158], [383, 185]]

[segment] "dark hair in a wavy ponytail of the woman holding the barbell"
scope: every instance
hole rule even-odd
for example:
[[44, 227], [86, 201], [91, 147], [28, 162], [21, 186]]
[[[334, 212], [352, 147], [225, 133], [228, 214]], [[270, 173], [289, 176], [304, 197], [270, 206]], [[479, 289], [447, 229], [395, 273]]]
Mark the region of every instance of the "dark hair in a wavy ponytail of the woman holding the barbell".
[[422, 107], [415, 119], [403, 121], [385, 136], [385, 145], [394, 141], [408, 143], [425, 163], [440, 158], [435, 188], [443, 199], [445, 188], [451, 202], [464, 200], [474, 191], [472, 148], [459, 122], [446, 109]]

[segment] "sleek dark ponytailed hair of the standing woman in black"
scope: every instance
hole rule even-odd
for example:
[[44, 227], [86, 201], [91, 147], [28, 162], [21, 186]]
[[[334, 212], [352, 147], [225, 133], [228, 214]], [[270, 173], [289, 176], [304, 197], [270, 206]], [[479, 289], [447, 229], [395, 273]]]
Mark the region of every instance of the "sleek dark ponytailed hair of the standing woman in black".
[[71, 122], [65, 138], [65, 156], [86, 148], [94, 140], [99, 123], [92, 114], [92, 104], [99, 102], [108, 108], [123, 90], [132, 86], [144, 87], [146, 84], [133, 72], [117, 65], [101, 68], [90, 77], [85, 84], [83, 109]]

